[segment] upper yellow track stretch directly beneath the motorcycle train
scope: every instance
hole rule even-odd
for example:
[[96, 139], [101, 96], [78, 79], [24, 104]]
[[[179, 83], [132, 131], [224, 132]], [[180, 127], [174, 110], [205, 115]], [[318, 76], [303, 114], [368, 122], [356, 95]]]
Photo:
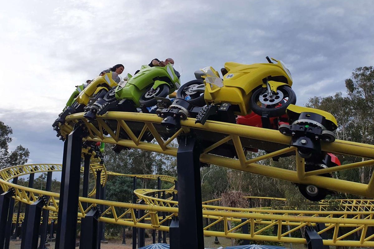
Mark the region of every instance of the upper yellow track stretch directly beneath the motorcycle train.
[[[194, 129], [197, 137], [202, 140], [215, 139], [212, 140], [210, 146], [204, 148], [200, 156], [201, 162], [265, 175], [267, 177], [278, 178], [293, 183], [315, 184], [324, 189], [374, 197], [373, 176], [368, 184], [321, 176], [321, 174], [325, 173], [373, 165], [374, 146], [370, 144], [343, 140], [335, 140], [333, 143], [321, 142], [322, 150], [325, 152], [356, 156], [369, 160], [305, 172], [304, 159], [301, 158], [298, 153], [295, 153], [295, 147], [289, 146], [291, 137], [285, 136], [276, 130], [217, 121], [207, 121], [204, 125], [201, 125], [195, 124], [194, 119], [187, 119], [181, 121], [182, 128], [180, 130], [176, 131], [174, 134], [170, 134], [170, 131], [167, 131], [165, 127], [160, 125], [162, 118], [153, 114], [128, 112], [107, 112], [97, 117], [95, 125], [87, 122], [87, 120], [83, 118], [83, 113], [67, 116], [65, 120], [65, 124], [60, 125], [61, 134], [63, 136], [66, 136], [72, 131], [74, 124], [81, 123], [86, 126], [88, 131], [88, 136], [85, 138], [86, 140], [118, 144], [173, 156], [177, 155], [177, 148], [169, 146], [171, 141], [181, 133], [187, 133], [190, 129]], [[115, 127], [116, 129], [111, 127]], [[146, 131], [149, 131], [154, 136], [157, 141], [156, 144], [141, 141]], [[127, 134], [127, 138], [122, 138], [120, 136], [120, 134], [123, 133]], [[135, 133], [139, 134], [139, 136], [135, 136]], [[108, 136], [105, 134], [108, 134]], [[165, 137], [165, 134], [169, 137], [166, 141], [162, 138]], [[218, 146], [234, 147], [237, 153], [237, 159], [211, 154], [210, 152]], [[243, 147], [259, 149], [271, 147], [276, 151], [246, 159]], [[291, 153], [296, 155], [296, 171], [260, 164], [264, 159], [281, 155], [286, 156]]]

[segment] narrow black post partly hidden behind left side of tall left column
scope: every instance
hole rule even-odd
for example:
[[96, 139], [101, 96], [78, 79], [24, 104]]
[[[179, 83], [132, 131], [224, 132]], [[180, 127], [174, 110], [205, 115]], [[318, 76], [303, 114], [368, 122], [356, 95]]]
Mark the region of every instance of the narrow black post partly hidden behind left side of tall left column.
[[[58, 214], [57, 214], [57, 228], [56, 228], [56, 243], [55, 249], [60, 249], [60, 234], [61, 234], [61, 220], [62, 220], [62, 207], [64, 205], [64, 189], [65, 189], [65, 174], [66, 174], [66, 159], [68, 151], [68, 140], [69, 136], [65, 138], [64, 142], [64, 154], [62, 157], [62, 169], [61, 169], [61, 184], [60, 184], [60, 199], [58, 203]], [[64, 249], [64, 248], [61, 248]]]

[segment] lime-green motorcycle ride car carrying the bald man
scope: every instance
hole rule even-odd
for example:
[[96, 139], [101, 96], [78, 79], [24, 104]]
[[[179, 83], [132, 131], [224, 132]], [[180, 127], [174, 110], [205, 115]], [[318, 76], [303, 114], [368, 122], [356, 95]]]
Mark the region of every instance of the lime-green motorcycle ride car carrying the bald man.
[[93, 121], [96, 114], [107, 111], [137, 112], [137, 108], [154, 106], [155, 97], [166, 97], [178, 90], [179, 78], [180, 72], [170, 63], [165, 67], [143, 65], [137, 74], [128, 74], [125, 81], [111, 88], [104, 97], [93, 99], [83, 116]]

